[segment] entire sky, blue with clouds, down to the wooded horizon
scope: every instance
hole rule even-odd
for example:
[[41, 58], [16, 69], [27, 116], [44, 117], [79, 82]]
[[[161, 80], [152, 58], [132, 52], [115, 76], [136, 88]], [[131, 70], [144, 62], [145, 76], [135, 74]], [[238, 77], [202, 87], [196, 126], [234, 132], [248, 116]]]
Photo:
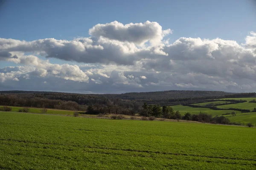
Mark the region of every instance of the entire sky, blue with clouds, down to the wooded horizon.
[[255, 0], [0, 0], [0, 90], [256, 91]]

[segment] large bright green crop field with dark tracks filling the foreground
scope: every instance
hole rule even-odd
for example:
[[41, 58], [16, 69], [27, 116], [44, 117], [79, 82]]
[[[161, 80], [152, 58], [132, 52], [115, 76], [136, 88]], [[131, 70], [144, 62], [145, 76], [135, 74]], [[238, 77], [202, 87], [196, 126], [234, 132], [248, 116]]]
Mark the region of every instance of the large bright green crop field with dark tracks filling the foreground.
[[0, 169], [256, 169], [256, 128], [0, 112]]

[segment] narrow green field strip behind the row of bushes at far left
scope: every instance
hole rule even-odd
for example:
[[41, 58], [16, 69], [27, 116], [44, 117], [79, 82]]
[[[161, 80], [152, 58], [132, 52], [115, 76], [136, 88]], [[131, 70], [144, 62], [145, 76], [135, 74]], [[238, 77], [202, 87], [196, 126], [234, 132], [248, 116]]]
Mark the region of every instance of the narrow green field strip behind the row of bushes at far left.
[[[3, 106], [0, 106], [3, 107]], [[24, 107], [15, 107], [9, 106], [12, 108], [12, 112], [18, 112], [19, 109]], [[55, 109], [47, 109], [47, 114], [62, 114], [62, 115], [73, 115], [75, 111], [65, 111], [65, 110], [55, 110]], [[41, 108], [29, 108], [29, 113], [41, 113]]]

